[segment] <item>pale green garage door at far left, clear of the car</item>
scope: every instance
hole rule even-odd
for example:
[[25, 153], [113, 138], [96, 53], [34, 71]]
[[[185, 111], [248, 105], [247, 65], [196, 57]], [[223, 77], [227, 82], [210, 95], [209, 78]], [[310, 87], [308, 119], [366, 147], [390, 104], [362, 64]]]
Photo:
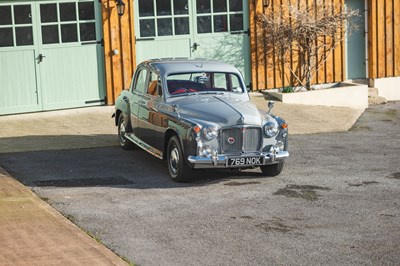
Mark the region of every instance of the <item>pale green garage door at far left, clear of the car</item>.
[[99, 8], [93, 0], [0, 4], [0, 114], [104, 102]]

